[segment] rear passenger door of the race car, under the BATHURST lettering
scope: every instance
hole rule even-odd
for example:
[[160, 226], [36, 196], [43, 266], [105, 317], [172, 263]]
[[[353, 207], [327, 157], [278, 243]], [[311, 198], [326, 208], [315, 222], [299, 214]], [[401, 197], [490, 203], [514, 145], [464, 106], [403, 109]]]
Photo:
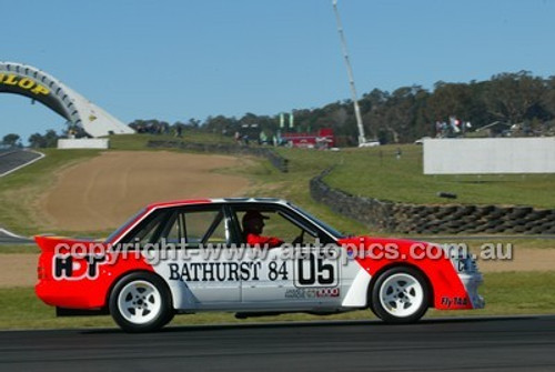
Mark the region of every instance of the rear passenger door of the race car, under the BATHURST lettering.
[[240, 303], [229, 223], [223, 205], [189, 207], [175, 210], [160, 232], [154, 270], [168, 281], [176, 309], [225, 310]]

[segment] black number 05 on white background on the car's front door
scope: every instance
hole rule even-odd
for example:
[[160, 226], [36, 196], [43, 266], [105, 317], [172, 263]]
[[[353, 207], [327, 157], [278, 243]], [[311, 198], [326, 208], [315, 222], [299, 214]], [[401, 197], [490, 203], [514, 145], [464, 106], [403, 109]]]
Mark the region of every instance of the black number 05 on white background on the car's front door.
[[303, 251], [294, 262], [295, 286], [337, 285], [337, 259], [325, 257], [316, 251]]

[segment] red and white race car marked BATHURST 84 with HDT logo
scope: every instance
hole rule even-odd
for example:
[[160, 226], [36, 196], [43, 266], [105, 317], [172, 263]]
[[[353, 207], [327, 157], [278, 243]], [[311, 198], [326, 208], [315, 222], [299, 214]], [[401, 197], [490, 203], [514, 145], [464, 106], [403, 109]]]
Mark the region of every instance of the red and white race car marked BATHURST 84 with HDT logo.
[[[252, 215], [263, 221], [255, 243], [245, 231]], [[370, 309], [385, 322], [410, 323], [428, 308], [484, 306], [482, 274], [460, 247], [344, 235], [280, 199], [153, 203], [105, 241], [36, 242], [43, 302], [58, 315], [110, 313], [127, 332], [203, 311], [249, 318]]]

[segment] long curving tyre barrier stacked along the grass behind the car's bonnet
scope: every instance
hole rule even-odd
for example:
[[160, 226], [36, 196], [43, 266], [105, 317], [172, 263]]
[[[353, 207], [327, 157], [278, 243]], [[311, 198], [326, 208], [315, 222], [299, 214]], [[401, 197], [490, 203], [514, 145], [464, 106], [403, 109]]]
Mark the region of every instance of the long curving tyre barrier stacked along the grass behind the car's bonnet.
[[367, 227], [400, 233], [555, 233], [555, 209], [496, 205], [418, 205], [350, 194], [329, 187], [329, 169], [310, 181], [314, 200]]

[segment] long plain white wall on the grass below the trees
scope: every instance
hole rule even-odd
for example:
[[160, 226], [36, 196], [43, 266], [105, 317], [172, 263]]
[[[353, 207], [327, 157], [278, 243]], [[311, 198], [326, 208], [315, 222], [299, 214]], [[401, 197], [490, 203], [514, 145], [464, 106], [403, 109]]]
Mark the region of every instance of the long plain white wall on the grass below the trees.
[[488, 173], [555, 173], [555, 138], [424, 140], [424, 174]]

